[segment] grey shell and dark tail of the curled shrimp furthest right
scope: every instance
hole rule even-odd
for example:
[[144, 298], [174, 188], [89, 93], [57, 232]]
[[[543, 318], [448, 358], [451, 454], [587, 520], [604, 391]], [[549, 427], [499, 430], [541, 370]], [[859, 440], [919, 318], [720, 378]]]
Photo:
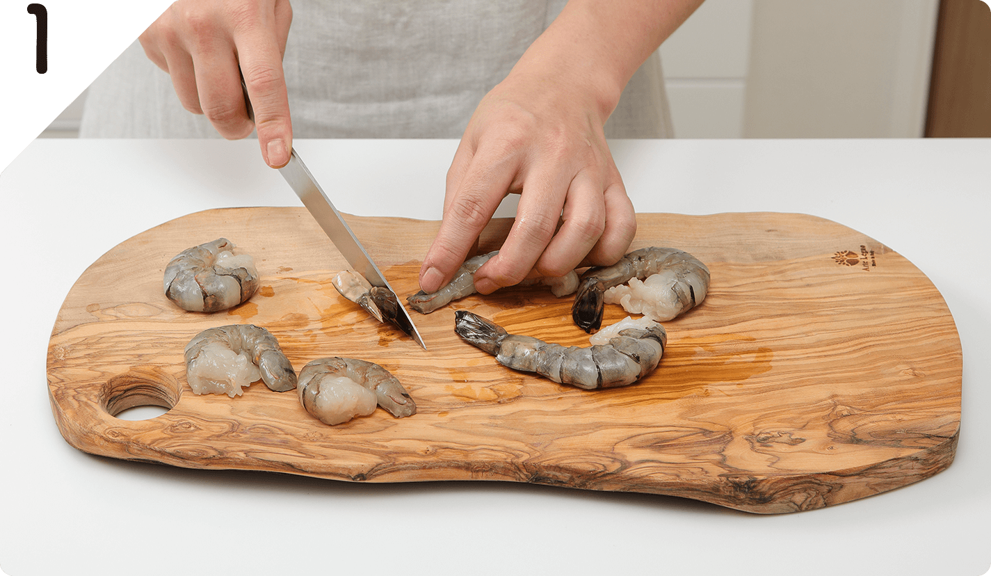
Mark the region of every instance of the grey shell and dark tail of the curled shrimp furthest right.
[[705, 264], [688, 252], [651, 246], [630, 252], [612, 266], [593, 268], [586, 272], [575, 295], [572, 318], [586, 332], [598, 330], [603, 324], [607, 288], [619, 286], [634, 278], [644, 280], [661, 271], [675, 276], [676, 282], [671, 289], [679, 304], [670, 318], [665, 319], [671, 319], [705, 299], [710, 283], [709, 268]]

